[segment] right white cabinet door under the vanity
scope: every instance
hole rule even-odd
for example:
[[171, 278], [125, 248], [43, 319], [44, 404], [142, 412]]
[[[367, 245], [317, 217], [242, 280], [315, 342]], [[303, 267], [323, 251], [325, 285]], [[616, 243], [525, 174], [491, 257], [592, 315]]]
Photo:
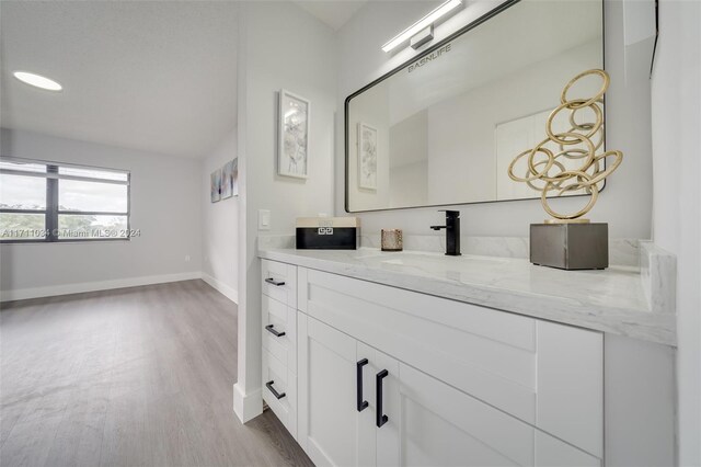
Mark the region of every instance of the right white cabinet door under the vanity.
[[378, 465], [600, 466], [584, 451], [438, 379], [401, 362], [398, 367], [399, 377], [383, 388], [388, 425], [397, 431], [378, 429]]

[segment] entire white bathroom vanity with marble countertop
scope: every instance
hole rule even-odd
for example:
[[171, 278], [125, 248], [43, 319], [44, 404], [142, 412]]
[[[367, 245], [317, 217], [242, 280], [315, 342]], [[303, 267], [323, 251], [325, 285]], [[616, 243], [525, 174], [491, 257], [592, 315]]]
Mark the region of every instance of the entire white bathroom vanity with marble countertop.
[[673, 465], [674, 262], [641, 250], [643, 274], [263, 247], [263, 398], [319, 466]]

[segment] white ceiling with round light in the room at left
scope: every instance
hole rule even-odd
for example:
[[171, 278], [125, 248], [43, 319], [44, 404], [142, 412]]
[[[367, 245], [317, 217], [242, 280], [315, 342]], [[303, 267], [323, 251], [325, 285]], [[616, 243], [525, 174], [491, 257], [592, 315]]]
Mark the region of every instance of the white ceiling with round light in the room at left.
[[[237, 124], [237, 2], [0, 2], [2, 126], [203, 157]], [[61, 92], [12, 71], [44, 75]]]

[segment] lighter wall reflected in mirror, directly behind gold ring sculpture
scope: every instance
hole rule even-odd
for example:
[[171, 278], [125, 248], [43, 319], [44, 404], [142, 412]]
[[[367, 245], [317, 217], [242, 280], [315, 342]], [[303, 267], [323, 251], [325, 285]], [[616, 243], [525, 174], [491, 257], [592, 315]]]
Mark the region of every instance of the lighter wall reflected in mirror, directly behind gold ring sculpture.
[[[428, 109], [428, 204], [508, 200], [498, 196], [497, 180], [512, 182], [497, 161], [498, 124], [554, 109], [573, 76], [600, 62], [601, 42], [590, 42], [530, 65], [498, 81], [447, 99]], [[544, 138], [544, 126], [542, 126]], [[540, 138], [540, 139], [543, 139]], [[540, 140], [539, 139], [539, 140]], [[528, 139], [512, 153], [532, 147]], [[517, 192], [521, 193], [521, 192]], [[527, 191], [524, 196], [537, 197]]]

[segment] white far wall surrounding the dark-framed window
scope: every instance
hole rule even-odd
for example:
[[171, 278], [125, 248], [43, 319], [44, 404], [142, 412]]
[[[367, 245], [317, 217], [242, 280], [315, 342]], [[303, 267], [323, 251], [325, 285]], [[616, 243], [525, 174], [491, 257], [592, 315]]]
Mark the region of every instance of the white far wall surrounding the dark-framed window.
[[[2, 129], [2, 156], [131, 172], [130, 241], [0, 246], [3, 299], [199, 276], [200, 161]], [[189, 261], [185, 257], [189, 255]]]

